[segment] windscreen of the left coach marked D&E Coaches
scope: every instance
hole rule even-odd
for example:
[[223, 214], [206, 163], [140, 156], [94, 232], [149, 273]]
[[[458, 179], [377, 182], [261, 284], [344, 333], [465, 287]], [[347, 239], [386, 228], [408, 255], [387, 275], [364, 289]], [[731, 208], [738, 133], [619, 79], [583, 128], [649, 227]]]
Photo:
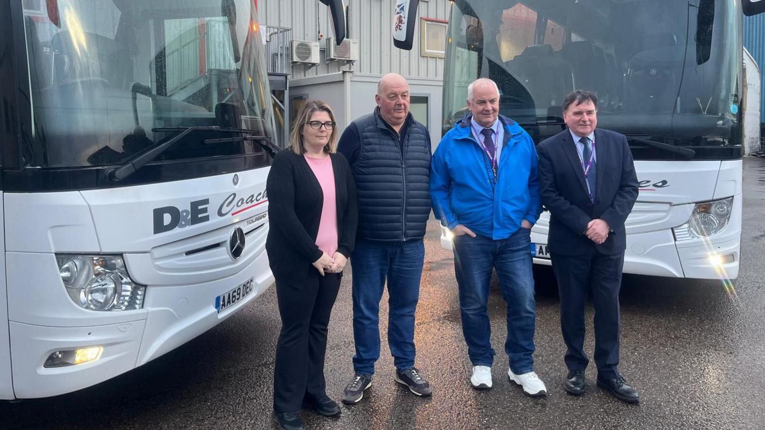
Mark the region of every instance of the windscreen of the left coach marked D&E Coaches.
[[[273, 136], [252, 0], [24, 0], [21, 168], [116, 165], [178, 130]], [[231, 130], [185, 135], [154, 162], [262, 152]], [[207, 143], [205, 141], [208, 141]]]

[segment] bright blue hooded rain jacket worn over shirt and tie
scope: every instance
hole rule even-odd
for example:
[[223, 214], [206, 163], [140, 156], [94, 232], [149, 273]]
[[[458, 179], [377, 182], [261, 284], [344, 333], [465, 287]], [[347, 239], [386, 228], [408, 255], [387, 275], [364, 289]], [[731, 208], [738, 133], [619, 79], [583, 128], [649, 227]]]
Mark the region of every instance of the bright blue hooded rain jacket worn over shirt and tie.
[[471, 118], [457, 122], [433, 154], [433, 211], [450, 229], [462, 224], [481, 236], [506, 239], [522, 220], [534, 224], [542, 212], [539, 158], [531, 136], [500, 115], [504, 138], [495, 181], [489, 158], [471, 132]]

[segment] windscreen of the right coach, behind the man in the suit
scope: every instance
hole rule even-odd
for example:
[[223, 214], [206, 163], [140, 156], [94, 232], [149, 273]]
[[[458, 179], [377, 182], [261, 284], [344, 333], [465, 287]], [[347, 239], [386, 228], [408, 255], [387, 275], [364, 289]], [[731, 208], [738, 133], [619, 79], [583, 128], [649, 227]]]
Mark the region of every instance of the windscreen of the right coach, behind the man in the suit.
[[[500, 113], [539, 142], [562, 131], [571, 90], [598, 95], [598, 126], [741, 157], [737, 2], [455, 0], [444, 81], [444, 132], [467, 112], [467, 85], [489, 77]], [[630, 142], [636, 158], [688, 159]]]

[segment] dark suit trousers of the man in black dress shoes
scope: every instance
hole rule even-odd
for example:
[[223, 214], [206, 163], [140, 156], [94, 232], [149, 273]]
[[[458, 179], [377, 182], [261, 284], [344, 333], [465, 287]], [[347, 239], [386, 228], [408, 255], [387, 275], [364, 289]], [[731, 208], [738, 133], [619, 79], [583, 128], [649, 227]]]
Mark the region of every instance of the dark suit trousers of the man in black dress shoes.
[[605, 378], [619, 374], [620, 311], [624, 252], [605, 256], [593, 247], [581, 256], [551, 252], [552, 269], [561, 298], [561, 330], [565, 340], [565, 363], [569, 370], [584, 370], [584, 301], [592, 292], [595, 308], [595, 365]]

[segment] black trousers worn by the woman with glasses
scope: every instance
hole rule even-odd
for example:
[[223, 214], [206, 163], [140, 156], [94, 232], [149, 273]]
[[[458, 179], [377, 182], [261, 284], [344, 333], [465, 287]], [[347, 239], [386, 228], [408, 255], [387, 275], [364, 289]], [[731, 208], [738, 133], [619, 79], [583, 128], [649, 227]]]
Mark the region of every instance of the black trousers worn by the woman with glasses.
[[274, 410], [297, 412], [304, 399], [324, 396], [327, 324], [340, 289], [341, 273], [324, 276], [311, 265], [303, 285], [276, 278], [282, 331], [276, 344]]

